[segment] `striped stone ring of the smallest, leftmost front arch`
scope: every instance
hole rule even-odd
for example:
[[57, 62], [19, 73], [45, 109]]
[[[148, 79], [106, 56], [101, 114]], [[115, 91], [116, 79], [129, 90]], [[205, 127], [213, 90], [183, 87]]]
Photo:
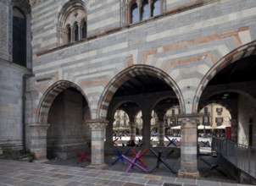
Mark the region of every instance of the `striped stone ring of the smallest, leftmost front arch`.
[[[76, 90], [79, 90], [81, 92], [81, 95], [85, 97], [86, 102], [88, 103], [88, 100], [86, 98], [84, 91], [81, 90], [81, 88], [78, 85], [75, 85], [70, 81], [60, 80], [54, 83], [53, 85], [51, 85], [42, 96], [41, 101], [38, 104], [38, 109], [36, 113], [36, 123], [39, 123], [39, 124], [47, 123], [48, 112], [54, 99], [58, 96], [60, 92], [68, 88], [75, 88]], [[91, 115], [91, 112], [90, 112], [90, 115]]]

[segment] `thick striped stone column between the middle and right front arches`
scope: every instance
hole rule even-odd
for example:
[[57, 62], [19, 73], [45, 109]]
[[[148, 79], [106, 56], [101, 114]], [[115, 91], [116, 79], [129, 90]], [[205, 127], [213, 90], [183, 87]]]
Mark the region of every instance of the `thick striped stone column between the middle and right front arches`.
[[179, 178], [199, 178], [197, 145], [198, 145], [198, 115], [181, 117], [181, 169]]

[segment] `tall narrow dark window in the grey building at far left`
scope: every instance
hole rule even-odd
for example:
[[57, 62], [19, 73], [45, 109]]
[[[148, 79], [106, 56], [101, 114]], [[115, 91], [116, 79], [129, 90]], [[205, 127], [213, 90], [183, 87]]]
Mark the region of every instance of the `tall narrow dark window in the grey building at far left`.
[[26, 18], [19, 8], [13, 9], [13, 62], [26, 67]]

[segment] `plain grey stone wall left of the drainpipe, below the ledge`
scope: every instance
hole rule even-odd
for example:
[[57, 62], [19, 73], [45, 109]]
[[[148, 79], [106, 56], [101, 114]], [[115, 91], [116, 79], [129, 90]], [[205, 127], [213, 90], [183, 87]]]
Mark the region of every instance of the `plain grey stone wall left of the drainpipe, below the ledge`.
[[0, 58], [0, 147], [3, 153], [23, 148], [23, 77], [31, 70]]

